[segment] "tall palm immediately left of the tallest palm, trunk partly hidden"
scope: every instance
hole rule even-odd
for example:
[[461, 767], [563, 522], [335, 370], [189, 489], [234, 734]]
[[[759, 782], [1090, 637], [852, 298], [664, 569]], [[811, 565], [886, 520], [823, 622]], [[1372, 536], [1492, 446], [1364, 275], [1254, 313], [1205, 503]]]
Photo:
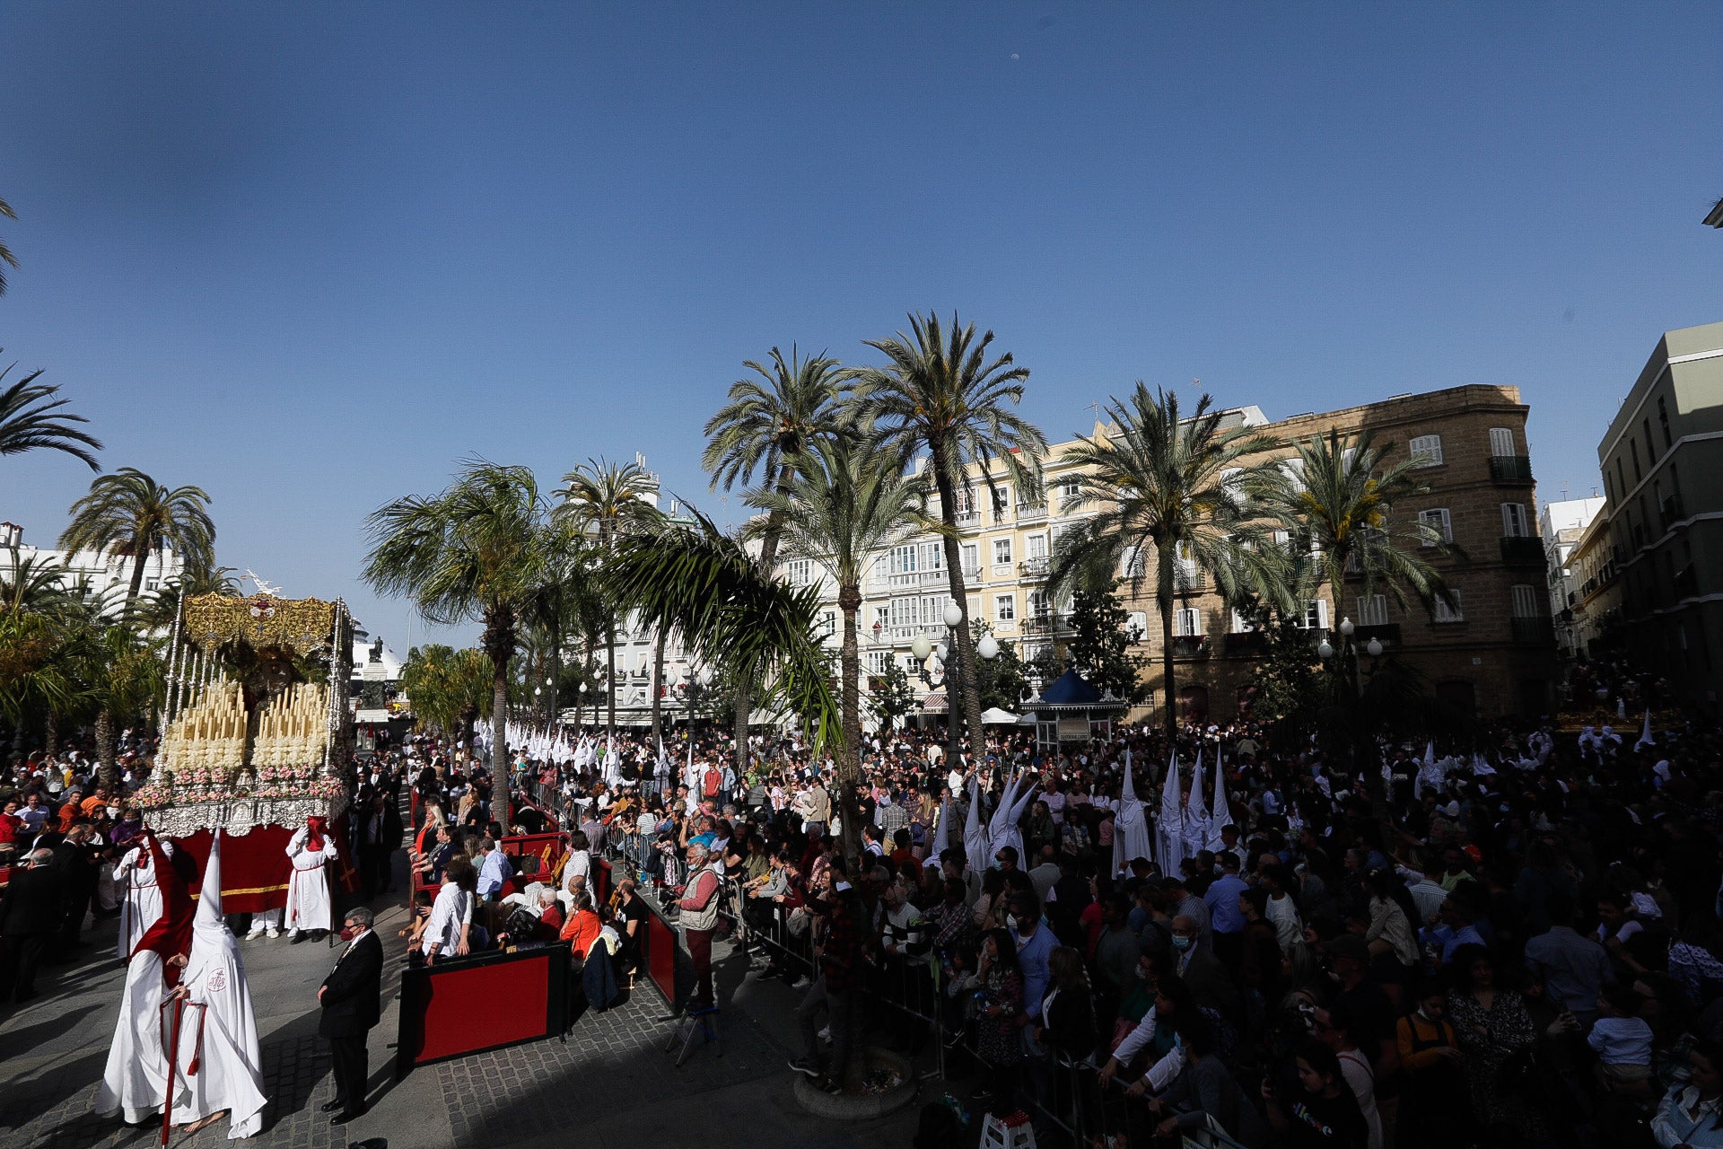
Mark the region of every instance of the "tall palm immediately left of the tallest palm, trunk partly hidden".
[[[791, 345], [789, 362], [779, 348], [772, 348], [770, 362], [770, 367], [744, 362], [743, 367], [760, 379], [732, 382], [731, 401], [706, 420], [708, 443], [700, 463], [712, 475], [713, 491], [734, 489], [737, 482], [751, 486], [758, 474], [770, 491], [786, 494], [796, 477], [796, 460], [820, 439], [839, 434], [848, 420], [844, 372], [837, 360], [824, 351], [801, 358]], [[777, 562], [781, 529], [782, 515], [768, 513], [760, 532], [760, 570], [767, 574]], [[746, 668], [736, 675], [737, 777], [748, 770], [751, 679]]]

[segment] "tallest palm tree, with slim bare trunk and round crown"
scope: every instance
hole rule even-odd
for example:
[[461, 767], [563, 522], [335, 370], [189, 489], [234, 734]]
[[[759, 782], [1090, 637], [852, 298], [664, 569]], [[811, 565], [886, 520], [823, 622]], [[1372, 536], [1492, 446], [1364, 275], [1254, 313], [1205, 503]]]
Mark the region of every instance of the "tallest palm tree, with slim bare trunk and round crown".
[[[870, 339], [884, 351], [884, 367], [855, 372], [858, 379], [856, 420], [874, 427], [874, 443], [887, 453], [889, 465], [908, 470], [925, 448], [939, 491], [944, 522], [946, 574], [958, 618], [958, 668], [963, 687], [963, 718], [970, 746], [982, 749], [980, 686], [975, 677], [975, 643], [970, 636], [968, 593], [963, 586], [963, 556], [958, 546], [958, 488], [965, 469], [977, 463], [987, 489], [998, 494], [992, 463], [1003, 463], [1023, 498], [1041, 486], [1039, 460], [1048, 450], [1041, 431], [1017, 412], [1023, 398], [1027, 367], [1013, 365], [1010, 353], [987, 358], [992, 332], [975, 338], [975, 326], [958, 326], [951, 317], [946, 338], [939, 317], [910, 315], [911, 336]], [[953, 699], [955, 703], [956, 699]], [[956, 706], [951, 706], [956, 720]], [[955, 736], [953, 736], [955, 741]]]

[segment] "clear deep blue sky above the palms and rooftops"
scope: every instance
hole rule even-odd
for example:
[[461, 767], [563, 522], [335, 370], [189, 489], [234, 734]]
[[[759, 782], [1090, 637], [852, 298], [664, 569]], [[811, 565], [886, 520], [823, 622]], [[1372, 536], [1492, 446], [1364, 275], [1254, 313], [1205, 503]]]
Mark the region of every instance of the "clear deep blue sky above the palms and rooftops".
[[[1516, 384], [1546, 500], [1723, 319], [1714, 3], [10, 0], [0, 43], [5, 360], [401, 653], [367, 512], [643, 451], [739, 519], [698, 455], [743, 360], [911, 308], [992, 327], [1054, 441], [1135, 379]], [[0, 519], [50, 544], [90, 477], [0, 460]]]

